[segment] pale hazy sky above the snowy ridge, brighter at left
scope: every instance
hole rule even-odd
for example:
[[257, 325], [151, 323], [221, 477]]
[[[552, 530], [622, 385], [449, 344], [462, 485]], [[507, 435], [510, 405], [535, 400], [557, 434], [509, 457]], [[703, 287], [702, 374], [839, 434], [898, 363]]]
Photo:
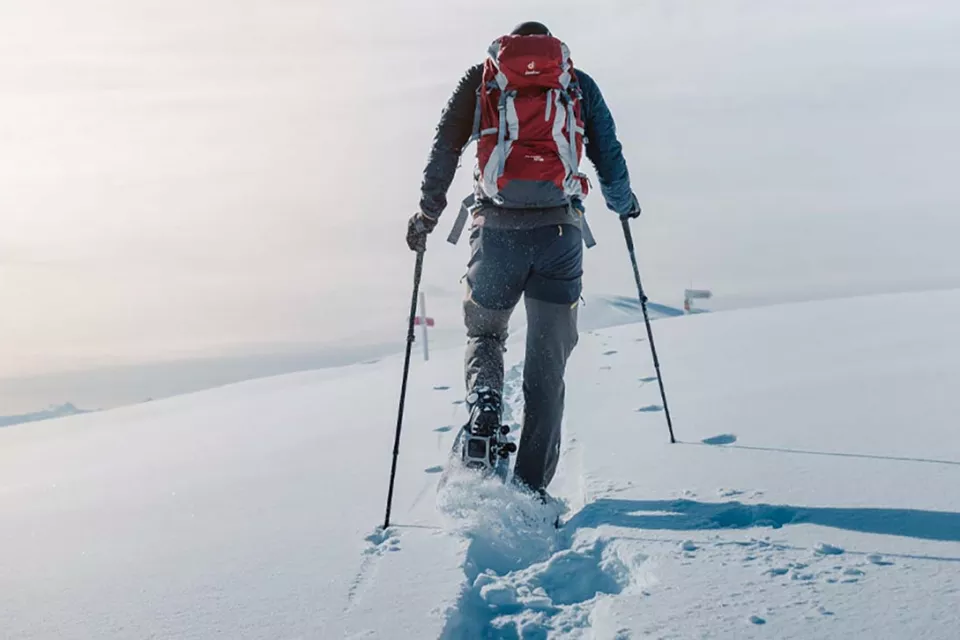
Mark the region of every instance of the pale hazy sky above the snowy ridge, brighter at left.
[[[402, 340], [440, 110], [525, 19], [610, 103], [655, 296], [960, 286], [957, 3], [561, 5], [4, 0], [0, 377]], [[629, 294], [619, 223], [587, 204], [588, 291]], [[454, 216], [425, 275], [448, 323]]]

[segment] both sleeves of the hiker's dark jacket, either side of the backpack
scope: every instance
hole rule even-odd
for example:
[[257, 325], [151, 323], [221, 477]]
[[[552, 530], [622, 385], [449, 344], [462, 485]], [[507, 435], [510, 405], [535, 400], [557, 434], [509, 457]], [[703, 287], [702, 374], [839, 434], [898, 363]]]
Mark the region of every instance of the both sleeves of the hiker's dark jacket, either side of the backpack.
[[[639, 206], [630, 189], [630, 174], [617, 140], [613, 115], [593, 78], [579, 69], [576, 74], [583, 94], [581, 115], [586, 155], [597, 169], [600, 191], [612, 211], [621, 215], [633, 213]], [[470, 67], [440, 116], [420, 187], [420, 210], [431, 217], [439, 217], [447, 207], [447, 190], [453, 182], [463, 148], [473, 134], [477, 90], [482, 79], [483, 65]]]

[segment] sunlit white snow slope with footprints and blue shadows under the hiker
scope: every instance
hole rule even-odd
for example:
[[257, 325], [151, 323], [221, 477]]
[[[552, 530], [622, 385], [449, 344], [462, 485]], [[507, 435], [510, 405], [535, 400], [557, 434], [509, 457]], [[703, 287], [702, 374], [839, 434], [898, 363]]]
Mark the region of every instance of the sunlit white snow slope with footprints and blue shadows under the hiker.
[[658, 320], [675, 445], [642, 325], [585, 333], [558, 533], [438, 495], [460, 350], [414, 362], [386, 532], [399, 358], [6, 428], [4, 637], [952, 638], [958, 320], [960, 291]]

